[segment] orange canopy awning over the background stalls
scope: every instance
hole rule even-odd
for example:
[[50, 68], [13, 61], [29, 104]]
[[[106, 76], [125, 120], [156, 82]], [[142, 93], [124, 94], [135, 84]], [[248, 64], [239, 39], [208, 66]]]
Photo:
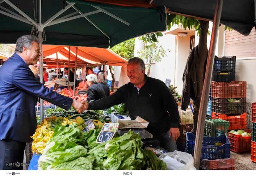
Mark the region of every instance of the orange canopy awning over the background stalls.
[[[43, 62], [49, 67], [56, 67], [58, 55], [58, 65], [60, 67], [68, 66], [68, 46], [43, 45]], [[70, 47], [70, 67], [75, 67], [76, 47]], [[110, 49], [78, 47], [77, 48], [77, 67], [115, 65], [125, 66], [127, 60], [117, 55]]]

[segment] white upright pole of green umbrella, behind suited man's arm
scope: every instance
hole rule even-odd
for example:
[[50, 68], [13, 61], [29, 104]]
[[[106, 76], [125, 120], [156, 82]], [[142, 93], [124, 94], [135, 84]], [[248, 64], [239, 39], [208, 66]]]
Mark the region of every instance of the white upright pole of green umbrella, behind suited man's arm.
[[[39, 72], [40, 72], [40, 82], [43, 84], [43, 31], [38, 31], [38, 38], [41, 48], [41, 57], [39, 61]], [[43, 121], [43, 99], [40, 99], [40, 119]]]

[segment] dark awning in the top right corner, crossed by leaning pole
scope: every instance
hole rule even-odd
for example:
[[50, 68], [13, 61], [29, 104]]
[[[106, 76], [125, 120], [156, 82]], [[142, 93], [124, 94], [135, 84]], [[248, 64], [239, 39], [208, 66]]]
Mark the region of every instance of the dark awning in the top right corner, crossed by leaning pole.
[[[155, 5], [165, 5], [169, 11], [213, 20], [215, 0], [154, 0]], [[221, 23], [249, 35], [255, 27], [254, 0], [223, 0]]]

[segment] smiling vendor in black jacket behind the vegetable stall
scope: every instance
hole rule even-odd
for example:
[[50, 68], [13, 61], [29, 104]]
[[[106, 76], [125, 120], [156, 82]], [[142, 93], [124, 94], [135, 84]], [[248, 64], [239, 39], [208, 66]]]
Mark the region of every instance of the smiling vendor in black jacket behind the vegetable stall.
[[128, 61], [127, 76], [130, 82], [113, 95], [88, 103], [91, 110], [104, 110], [125, 103], [129, 115], [140, 116], [149, 122], [147, 130], [160, 141], [160, 146], [171, 152], [177, 150], [180, 136], [178, 106], [171, 91], [163, 81], [147, 77], [142, 59]]

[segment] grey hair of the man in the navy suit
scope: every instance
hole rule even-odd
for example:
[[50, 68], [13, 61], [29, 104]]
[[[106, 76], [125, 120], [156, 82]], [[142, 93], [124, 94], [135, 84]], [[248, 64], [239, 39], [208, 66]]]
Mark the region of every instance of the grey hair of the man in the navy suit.
[[33, 42], [39, 43], [38, 37], [34, 35], [22, 35], [17, 39], [15, 52], [22, 53], [23, 47], [29, 48], [30, 50]]

